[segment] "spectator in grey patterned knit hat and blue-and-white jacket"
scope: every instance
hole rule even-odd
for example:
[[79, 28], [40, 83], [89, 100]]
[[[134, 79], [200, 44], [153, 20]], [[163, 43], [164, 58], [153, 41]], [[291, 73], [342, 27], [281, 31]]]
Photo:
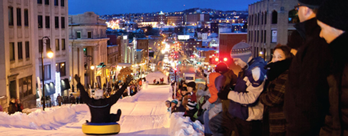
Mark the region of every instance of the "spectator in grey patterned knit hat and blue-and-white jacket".
[[252, 57], [251, 46], [240, 42], [232, 47], [231, 57], [239, 72], [234, 90], [222, 90], [218, 97], [230, 99], [228, 112], [221, 112], [209, 121], [214, 136], [259, 136], [263, 105], [258, 100], [264, 86], [266, 62], [261, 57]]

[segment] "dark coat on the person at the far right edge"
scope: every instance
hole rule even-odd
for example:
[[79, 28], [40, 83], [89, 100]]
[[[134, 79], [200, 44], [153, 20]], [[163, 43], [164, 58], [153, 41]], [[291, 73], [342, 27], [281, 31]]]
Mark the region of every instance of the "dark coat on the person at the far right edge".
[[330, 90], [330, 113], [320, 136], [348, 136], [348, 33], [345, 32], [329, 47], [333, 54], [330, 75], [327, 78]]

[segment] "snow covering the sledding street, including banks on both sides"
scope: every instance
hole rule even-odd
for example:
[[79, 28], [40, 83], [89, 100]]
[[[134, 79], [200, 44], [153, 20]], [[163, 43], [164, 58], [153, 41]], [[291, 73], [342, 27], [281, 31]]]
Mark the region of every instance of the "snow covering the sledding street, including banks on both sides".
[[[170, 115], [165, 106], [171, 100], [170, 86], [147, 86], [132, 97], [118, 100], [111, 112], [122, 110], [117, 136], [202, 136], [204, 129], [198, 122]], [[82, 124], [90, 120], [86, 104], [63, 105], [36, 109], [29, 115], [0, 112], [0, 136], [84, 136]]]

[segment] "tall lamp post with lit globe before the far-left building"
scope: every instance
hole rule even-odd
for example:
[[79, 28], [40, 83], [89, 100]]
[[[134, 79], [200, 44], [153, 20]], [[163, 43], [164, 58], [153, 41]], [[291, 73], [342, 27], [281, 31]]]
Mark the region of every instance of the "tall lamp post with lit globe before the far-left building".
[[[47, 39], [48, 40], [48, 42], [47, 41], [44, 41], [44, 39]], [[46, 47], [46, 53], [47, 53], [47, 56], [49, 57], [49, 58], [52, 58], [53, 57], [53, 51], [51, 50], [51, 42], [50, 42], [50, 38], [48, 38], [48, 37], [43, 37], [42, 39], [42, 42], [44, 43], [44, 44], [49, 44], [49, 48], [47, 48]], [[45, 67], [44, 67], [44, 63], [43, 63], [43, 61], [44, 61], [44, 53], [43, 53], [43, 46], [44, 45], [42, 45], [41, 46], [41, 66], [42, 66], [42, 97], [43, 97], [43, 110], [45, 111], [45, 107], [46, 107], [46, 96], [45, 96]]]

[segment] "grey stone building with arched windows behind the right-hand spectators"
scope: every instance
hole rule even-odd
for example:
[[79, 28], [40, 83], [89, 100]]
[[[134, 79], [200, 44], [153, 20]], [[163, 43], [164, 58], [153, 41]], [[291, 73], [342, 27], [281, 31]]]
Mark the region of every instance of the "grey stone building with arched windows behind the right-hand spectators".
[[286, 45], [298, 17], [296, 0], [261, 0], [249, 5], [248, 40], [253, 56], [270, 60], [277, 44]]

